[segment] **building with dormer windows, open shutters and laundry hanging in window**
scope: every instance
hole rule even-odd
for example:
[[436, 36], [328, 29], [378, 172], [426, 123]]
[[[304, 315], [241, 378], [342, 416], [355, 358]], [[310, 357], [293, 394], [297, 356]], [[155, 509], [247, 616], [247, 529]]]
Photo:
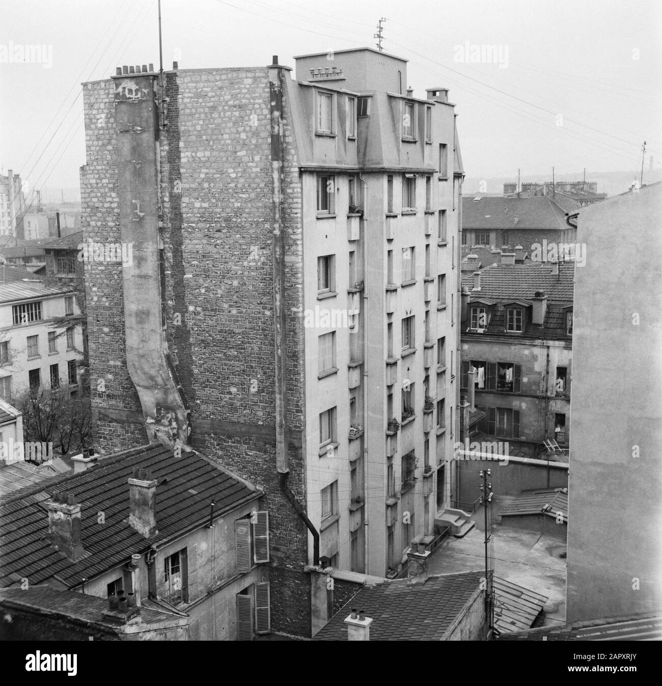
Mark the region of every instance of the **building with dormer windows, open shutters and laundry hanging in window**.
[[473, 368], [478, 429], [511, 455], [567, 462], [575, 263], [501, 260], [462, 282], [461, 386]]

